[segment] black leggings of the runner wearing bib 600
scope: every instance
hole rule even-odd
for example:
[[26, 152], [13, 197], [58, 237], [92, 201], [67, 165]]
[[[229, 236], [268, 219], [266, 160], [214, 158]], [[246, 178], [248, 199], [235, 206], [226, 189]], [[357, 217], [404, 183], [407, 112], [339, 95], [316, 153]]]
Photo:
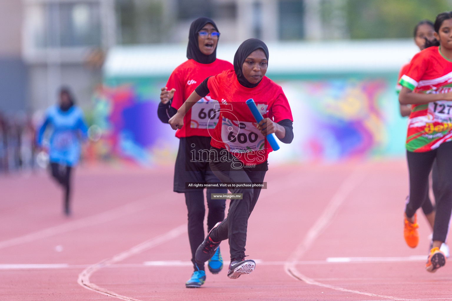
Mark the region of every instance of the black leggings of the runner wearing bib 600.
[[[242, 167], [239, 169], [231, 167], [231, 162], [216, 161], [214, 152], [217, 152], [216, 158], [222, 149], [211, 148], [210, 168], [215, 176], [221, 182], [263, 182], [265, 172], [268, 170], [267, 161], [257, 164], [255, 167]], [[231, 189], [230, 189], [231, 190]], [[224, 241], [229, 239], [229, 251], [231, 261], [234, 259], [243, 259], [245, 257], [246, 231], [248, 228], [248, 218], [256, 205], [261, 188], [232, 189], [231, 193], [243, 194], [243, 199], [231, 199], [227, 217], [221, 224], [212, 230], [210, 237], [214, 241]]]

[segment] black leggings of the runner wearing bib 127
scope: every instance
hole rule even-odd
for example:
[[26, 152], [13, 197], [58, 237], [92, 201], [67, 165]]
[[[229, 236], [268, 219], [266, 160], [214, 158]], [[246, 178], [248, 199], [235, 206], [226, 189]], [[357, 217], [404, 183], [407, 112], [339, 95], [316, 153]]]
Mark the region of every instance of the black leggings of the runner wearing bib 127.
[[452, 142], [445, 142], [429, 152], [407, 151], [406, 157], [410, 171], [410, 195], [405, 208], [408, 217], [412, 217], [428, 197], [428, 175], [436, 158], [438, 179], [434, 183], [437, 183], [435, 190], [438, 198], [433, 240], [445, 242], [452, 210]]

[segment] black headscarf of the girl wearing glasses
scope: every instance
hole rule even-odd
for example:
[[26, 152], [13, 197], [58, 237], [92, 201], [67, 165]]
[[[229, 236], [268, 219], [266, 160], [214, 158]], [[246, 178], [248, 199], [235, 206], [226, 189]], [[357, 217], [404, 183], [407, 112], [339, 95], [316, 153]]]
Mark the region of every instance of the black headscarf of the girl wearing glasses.
[[212, 19], [207, 17], [199, 17], [192, 22], [190, 25], [190, 32], [188, 33], [187, 58], [196, 60], [201, 64], [210, 64], [217, 59], [217, 47], [215, 47], [215, 50], [209, 56], [206, 56], [199, 50], [198, 31], [200, 31], [207, 23], [211, 23], [218, 31], [217, 25]]

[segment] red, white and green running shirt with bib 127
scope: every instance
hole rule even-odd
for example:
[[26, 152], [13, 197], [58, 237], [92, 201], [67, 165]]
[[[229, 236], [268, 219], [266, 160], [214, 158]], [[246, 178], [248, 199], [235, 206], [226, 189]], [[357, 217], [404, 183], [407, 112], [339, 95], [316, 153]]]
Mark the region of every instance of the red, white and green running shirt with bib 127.
[[[452, 91], [452, 61], [438, 46], [417, 53], [400, 85], [414, 93], [440, 94]], [[408, 120], [406, 149], [422, 153], [452, 139], [452, 102], [441, 100], [413, 105]]]

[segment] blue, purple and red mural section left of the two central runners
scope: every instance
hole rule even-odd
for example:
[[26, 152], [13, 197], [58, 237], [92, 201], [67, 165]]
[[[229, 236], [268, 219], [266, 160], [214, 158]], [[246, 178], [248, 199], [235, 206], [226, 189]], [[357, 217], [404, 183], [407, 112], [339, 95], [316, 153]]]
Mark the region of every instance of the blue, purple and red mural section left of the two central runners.
[[122, 84], [101, 86], [94, 93], [94, 123], [102, 133], [97, 153], [145, 167], [165, 164], [177, 145], [174, 131], [157, 118], [158, 102], [137, 91], [132, 84]]

